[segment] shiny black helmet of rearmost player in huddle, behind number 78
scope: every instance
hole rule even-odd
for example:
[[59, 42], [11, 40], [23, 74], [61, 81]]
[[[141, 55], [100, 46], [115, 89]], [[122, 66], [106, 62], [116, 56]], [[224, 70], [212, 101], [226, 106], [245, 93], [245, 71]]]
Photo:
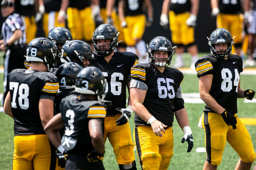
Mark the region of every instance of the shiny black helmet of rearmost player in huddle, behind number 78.
[[51, 29], [47, 36], [58, 48], [59, 55], [61, 54], [61, 47], [66, 41], [73, 40], [71, 32], [64, 27], [54, 27]]

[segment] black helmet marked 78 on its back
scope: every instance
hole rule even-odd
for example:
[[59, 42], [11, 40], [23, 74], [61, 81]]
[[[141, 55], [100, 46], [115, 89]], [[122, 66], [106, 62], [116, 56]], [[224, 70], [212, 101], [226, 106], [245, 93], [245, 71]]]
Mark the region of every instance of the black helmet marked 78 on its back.
[[48, 71], [53, 67], [55, 57], [57, 57], [57, 48], [49, 39], [35, 38], [27, 46], [26, 60], [43, 62]]

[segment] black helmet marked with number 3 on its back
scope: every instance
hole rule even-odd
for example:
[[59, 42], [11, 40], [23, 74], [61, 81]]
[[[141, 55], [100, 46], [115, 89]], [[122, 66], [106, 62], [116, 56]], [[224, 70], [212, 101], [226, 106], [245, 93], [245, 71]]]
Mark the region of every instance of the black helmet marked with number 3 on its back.
[[96, 67], [86, 67], [76, 76], [75, 91], [82, 94], [97, 95], [102, 98], [106, 89], [106, 80], [103, 73]]

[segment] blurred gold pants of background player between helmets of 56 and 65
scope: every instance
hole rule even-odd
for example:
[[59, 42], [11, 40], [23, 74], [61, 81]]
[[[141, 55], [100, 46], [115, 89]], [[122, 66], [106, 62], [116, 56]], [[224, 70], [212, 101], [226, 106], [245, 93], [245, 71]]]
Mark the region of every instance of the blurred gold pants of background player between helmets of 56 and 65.
[[125, 42], [127, 46], [135, 46], [135, 38], [142, 38], [145, 30], [145, 15], [126, 16], [127, 28], [123, 29]]

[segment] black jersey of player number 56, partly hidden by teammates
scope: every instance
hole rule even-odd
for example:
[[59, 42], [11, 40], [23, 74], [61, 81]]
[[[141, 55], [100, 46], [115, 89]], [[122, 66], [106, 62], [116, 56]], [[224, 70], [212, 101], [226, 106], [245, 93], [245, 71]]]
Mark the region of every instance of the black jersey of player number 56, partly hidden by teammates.
[[130, 52], [114, 52], [109, 62], [95, 53], [94, 56], [92, 65], [102, 71], [107, 81], [104, 100], [112, 101], [107, 115], [120, 113], [115, 108], [126, 108], [126, 86], [127, 82], [130, 82], [131, 67], [138, 63], [138, 56]]

